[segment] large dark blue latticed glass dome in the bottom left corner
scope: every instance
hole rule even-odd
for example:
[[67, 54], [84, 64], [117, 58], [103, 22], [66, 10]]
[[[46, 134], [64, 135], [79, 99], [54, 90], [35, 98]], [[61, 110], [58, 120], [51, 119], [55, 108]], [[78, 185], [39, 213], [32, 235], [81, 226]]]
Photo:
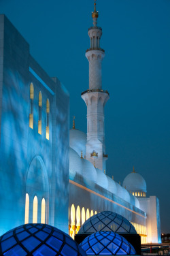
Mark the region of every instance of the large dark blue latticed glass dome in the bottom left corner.
[[0, 237], [0, 255], [86, 256], [86, 253], [69, 235], [56, 227], [26, 224]]

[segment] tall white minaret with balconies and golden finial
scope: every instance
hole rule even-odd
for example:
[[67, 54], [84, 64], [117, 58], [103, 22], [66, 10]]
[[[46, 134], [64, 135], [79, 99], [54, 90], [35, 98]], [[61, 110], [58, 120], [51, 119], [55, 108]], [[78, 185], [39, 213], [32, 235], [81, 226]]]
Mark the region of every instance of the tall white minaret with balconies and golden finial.
[[99, 14], [92, 12], [93, 27], [88, 29], [90, 37], [90, 49], [86, 50], [86, 58], [89, 62], [89, 89], [82, 93], [87, 106], [87, 143], [86, 159], [94, 163], [95, 167], [104, 172], [105, 160], [105, 129], [104, 129], [104, 106], [109, 99], [108, 91], [102, 89], [101, 62], [105, 57], [105, 51], [100, 47], [102, 35], [101, 27], [97, 27]]

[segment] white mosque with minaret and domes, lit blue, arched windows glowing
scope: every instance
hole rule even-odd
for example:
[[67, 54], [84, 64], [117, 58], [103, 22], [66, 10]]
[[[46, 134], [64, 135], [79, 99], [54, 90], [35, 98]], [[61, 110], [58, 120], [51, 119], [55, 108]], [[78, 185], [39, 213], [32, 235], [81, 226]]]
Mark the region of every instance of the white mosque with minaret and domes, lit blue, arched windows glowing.
[[[0, 235], [24, 223], [46, 223], [74, 238], [83, 223], [103, 210], [121, 214], [142, 243], [159, 243], [156, 196], [135, 171], [122, 186], [107, 176], [98, 12], [88, 29], [87, 133], [69, 131], [69, 93], [33, 59], [29, 44], [0, 15]], [[69, 225], [68, 225], [69, 224]], [[126, 227], [119, 225], [118, 232]]]

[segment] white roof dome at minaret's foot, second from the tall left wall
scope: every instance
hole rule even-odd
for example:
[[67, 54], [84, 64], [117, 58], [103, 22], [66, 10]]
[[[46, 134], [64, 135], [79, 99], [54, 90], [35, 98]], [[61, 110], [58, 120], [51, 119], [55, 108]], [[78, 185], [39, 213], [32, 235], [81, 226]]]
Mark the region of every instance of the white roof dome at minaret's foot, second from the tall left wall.
[[93, 182], [97, 182], [97, 171], [95, 167], [90, 163], [90, 161], [86, 159], [81, 159], [82, 161], [82, 175], [84, 178], [88, 180], [92, 180]]

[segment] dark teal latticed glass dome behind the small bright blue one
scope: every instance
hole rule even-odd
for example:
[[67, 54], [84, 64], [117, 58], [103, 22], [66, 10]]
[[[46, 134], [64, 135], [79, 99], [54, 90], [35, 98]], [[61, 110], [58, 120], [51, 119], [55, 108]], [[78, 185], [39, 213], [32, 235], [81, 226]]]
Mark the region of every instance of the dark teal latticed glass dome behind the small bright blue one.
[[92, 234], [97, 231], [114, 231], [118, 234], [137, 234], [135, 227], [116, 212], [99, 212], [84, 222], [78, 234]]

